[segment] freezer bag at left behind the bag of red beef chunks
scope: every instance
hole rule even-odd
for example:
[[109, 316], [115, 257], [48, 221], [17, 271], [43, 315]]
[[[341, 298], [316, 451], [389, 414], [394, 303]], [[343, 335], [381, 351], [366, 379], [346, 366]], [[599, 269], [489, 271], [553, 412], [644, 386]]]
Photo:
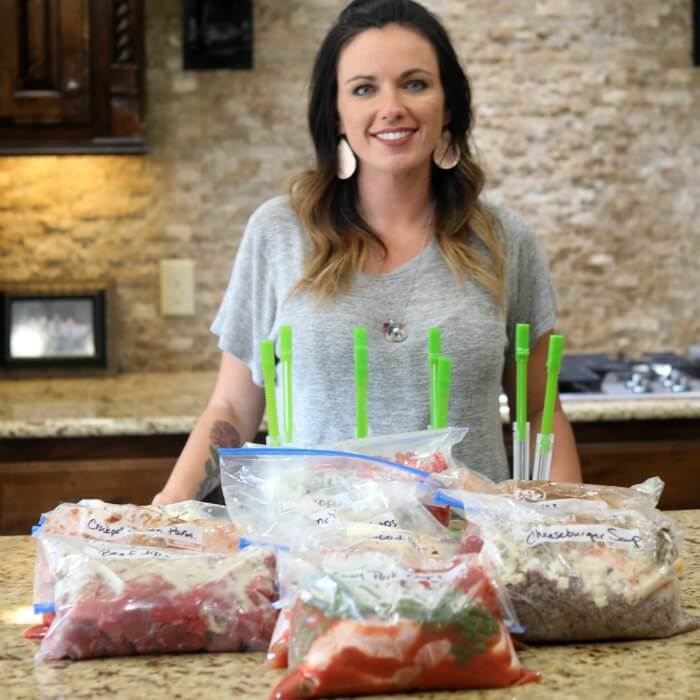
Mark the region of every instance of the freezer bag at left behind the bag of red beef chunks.
[[[167, 506], [135, 506], [84, 500], [61, 503], [44, 513], [34, 528], [81, 540], [208, 553], [238, 551], [238, 529], [223, 506], [183, 501]], [[53, 610], [53, 575], [37, 552], [34, 570], [34, 612]], [[37, 632], [31, 636], [40, 636]]]

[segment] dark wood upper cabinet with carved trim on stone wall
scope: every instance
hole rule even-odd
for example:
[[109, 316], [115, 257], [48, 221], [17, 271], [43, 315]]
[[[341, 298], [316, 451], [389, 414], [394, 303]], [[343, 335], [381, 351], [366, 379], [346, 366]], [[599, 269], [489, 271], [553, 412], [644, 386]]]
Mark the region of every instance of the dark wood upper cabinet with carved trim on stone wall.
[[143, 153], [142, 0], [0, 2], [0, 154]]

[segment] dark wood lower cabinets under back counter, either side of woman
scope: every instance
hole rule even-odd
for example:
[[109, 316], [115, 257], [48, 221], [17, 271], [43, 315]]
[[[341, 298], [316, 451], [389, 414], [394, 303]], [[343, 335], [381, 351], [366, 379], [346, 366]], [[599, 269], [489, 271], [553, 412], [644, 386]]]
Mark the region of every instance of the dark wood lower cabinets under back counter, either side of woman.
[[[572, 425], [586, 483], [631, 486], [660, 476], [666, 484], [662, 509], [700, 508], [700, 419]], [[150, 503], [187, 437], [183, 433], [0, 440], [0, 535], [28, 533], [42, 513], [62, 501]], [[504, 439], [509, 445], [510, 426], [504, 426]], [[264, 433], [255, 441], [264, 444]]]

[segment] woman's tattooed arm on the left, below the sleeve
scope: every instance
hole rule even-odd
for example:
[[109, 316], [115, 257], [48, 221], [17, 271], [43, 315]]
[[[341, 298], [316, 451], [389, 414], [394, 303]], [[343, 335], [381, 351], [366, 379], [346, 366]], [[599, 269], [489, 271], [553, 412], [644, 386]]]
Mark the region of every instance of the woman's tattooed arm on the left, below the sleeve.
[[204, 498], [219, 483], [217, 449], [239, 447], [252, 440], [264, 407], [263, 390], [253, 382], [248, 366], [222, 353], [211, 399], [153, 503]]

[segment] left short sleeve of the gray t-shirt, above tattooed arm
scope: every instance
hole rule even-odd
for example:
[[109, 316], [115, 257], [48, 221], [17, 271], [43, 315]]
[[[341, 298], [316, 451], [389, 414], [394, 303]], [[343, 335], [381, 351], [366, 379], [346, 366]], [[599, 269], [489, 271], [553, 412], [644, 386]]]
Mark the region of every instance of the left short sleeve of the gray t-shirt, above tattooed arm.
[[211, 325], [219, 348], [248, 365], [258, 386], [263, 385], [260, 341], [271, 337], [277, 312], [275, 276], [264, 254], [265, 218], [264, 205], [250, 217]]

